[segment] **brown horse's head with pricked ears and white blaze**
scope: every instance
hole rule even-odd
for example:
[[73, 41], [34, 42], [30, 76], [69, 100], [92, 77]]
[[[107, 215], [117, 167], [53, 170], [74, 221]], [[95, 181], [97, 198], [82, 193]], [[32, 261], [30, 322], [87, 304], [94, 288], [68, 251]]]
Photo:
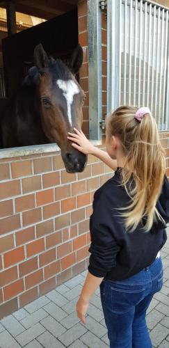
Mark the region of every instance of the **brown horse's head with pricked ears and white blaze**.
[[83, 171], [87, 160], [86, 155], [72, 148], [67, 140], [67, 132], [73, 132], [74, 127], [81, 129], [83, 120], [85, 94], [75, 79], [82, 61], [81, 46], [74, 50], [69, 67], [60, 59], [48, 58], [41, 44], [34, 50], [43, 131], [49, 141], [56, 142], [61, 148], [68, 173]]

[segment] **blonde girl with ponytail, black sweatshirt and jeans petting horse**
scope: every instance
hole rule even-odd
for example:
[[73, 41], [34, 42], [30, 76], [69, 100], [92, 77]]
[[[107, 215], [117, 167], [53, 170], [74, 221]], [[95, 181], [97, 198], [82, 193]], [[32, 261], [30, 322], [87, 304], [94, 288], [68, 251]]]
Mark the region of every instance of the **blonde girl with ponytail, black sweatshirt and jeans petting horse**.
[[88, 275], [77, 315], [85, 324], [90, 297], [100, 287], [110, 347], [151, 348], [145, 315], [162, 287], [159, 251], [169, 221], [169, 184], [156, 122], [148, 108], [120, 106], [106, 121], [107, 154], [74, 130], [68, 136], [74, 148], [115, 170], [95, 192]]

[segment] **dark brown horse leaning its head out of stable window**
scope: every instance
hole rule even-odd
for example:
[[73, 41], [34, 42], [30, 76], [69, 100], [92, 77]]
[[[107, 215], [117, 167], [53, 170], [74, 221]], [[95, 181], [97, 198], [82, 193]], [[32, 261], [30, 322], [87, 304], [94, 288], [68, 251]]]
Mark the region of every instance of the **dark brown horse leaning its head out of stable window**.
[[57, 143], [66, 171], [81, 172], [87, 157], [72, 147], [67, 132], [81, 129], [83, 120], [85, 93], [75, 78], [83, 50], [80, 45], [74, 49], [69, 65], [48, 58], [41, 44], [35, 47], [33, 57], [34, 66], [1, 111], [1, 148]]

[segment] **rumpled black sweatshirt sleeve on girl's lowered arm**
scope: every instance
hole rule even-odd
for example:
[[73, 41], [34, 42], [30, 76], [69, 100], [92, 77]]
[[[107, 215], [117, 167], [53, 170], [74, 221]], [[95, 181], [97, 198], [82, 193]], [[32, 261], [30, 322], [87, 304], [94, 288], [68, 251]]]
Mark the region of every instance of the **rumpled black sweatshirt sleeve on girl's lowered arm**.
[[113, 212], [111, 199], [107, 194], [95, 195], [93, 213], [90, 216], [91, 244], [88, 251], [88, 271], [97, 277], [104, 277], [112, 267], [115, 267], [116, 256], [120, 244], [115, 239], [115, 212]]

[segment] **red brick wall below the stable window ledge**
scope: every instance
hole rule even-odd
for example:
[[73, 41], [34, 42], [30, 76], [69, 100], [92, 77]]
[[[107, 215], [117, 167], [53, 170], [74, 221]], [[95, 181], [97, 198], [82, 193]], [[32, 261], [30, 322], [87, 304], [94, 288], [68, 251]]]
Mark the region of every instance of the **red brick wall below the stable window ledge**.
[[67, 174], [60, 155], [0, 160], [0, 316], [88, 264], [92, 196], [111, 171], [89, 156]]

